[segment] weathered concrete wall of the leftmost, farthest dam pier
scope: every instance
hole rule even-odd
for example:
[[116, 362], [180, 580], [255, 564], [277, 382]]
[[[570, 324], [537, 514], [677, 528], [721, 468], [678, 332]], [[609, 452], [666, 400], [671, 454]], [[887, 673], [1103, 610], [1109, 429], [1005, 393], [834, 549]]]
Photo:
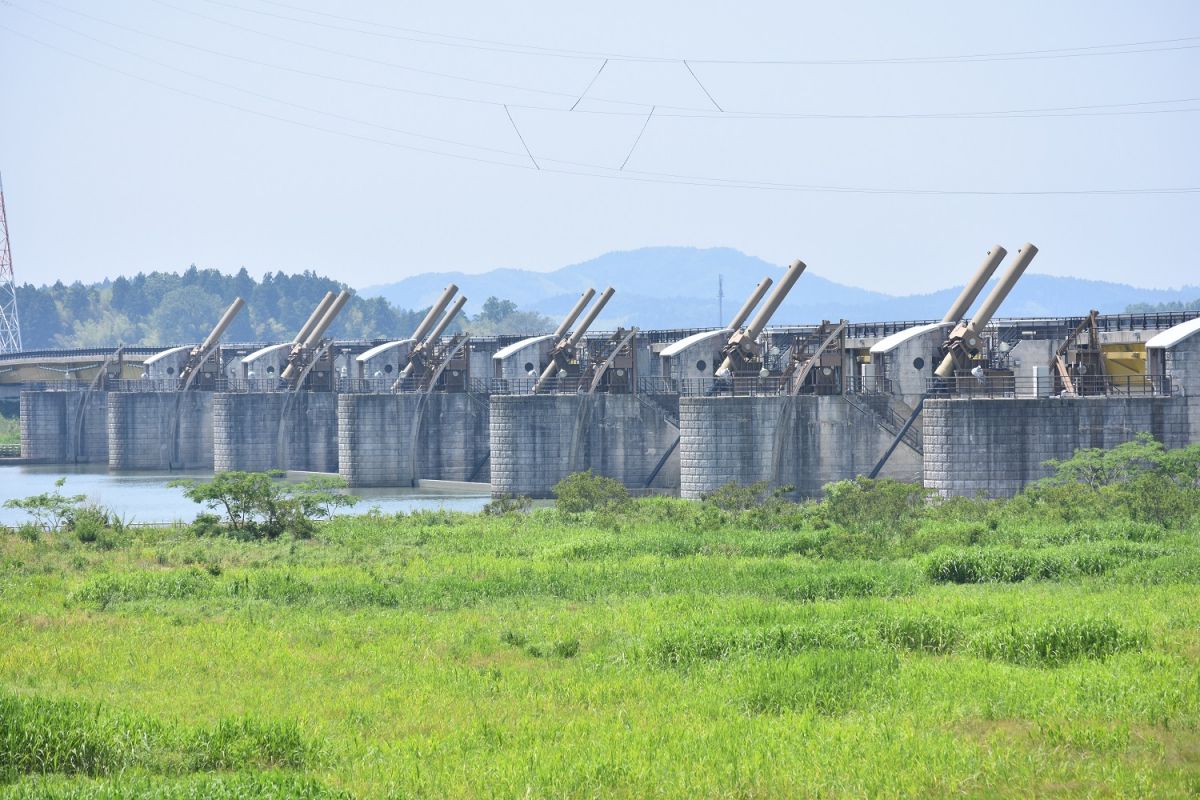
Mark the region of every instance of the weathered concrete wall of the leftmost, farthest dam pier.
[[108, 393], [22, 392], [20, 452], [32, 464], [106, 463]]

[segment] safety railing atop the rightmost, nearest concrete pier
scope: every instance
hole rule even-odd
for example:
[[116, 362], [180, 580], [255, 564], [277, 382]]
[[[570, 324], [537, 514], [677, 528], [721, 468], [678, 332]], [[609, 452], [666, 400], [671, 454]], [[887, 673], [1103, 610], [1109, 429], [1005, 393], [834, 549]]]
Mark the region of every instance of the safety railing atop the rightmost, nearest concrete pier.
[[931, 378], [932, 399], [1032, 399], [1037, 397], [1170, 397], [1166, 375], [1076, 375], [1068, 386], [1054, 375], [983, 374]]

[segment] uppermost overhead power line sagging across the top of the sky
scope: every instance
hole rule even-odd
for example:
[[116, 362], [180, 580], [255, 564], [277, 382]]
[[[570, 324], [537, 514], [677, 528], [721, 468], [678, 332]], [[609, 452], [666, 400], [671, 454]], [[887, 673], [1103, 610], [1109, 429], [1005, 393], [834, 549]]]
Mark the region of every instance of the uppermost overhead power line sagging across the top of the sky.
[[[265, 5], [275, 6], [277, 8], [287, 8], [289, 11], [299, 11], [301, 13], [312, 14], [316, 17], [323, 17], [325, 19], [336, 19], [338, 22], [348, 22], [358, 25], [367, 25], [382, 30], [395, 30], [402, 32], [402, 34], [389, 35], [376, 31], [365, 31], [354, 28], [346, 28], [341, 25], [331, 25], [329, 23], [320, 23], [312, 19], [290, 17], [288, 14], [280, 14], [270, 11], [262, 11], [259, 8], [251, 8], [241, 4], [229, 2], [227, 0], [205, 0], [205, 1], [209, 2], [210, 5], [223, 6], [226, 8], [230, 8], [234, 11], [259, 14], [263, 17], [272, 17], [275, 19], [283, 19], [287, 22], [300, 23], [304, 25], [313, 25], [318, 28], [326, 28], [330, 30], [340, 30], [343, 32], [362, 34], [367, 36], [382, 36], [386, 38], [398, 38], [402, 41], [413, 41], [424, 44], [434, 44], [443, 47], [458, 47], [458, 48], [469, 48], [469, 49], [479, 49], [488, 52], [509, 53], [515, 55], [533, 55], [533, 56], [547, 56], [558, 59], [608, 59], [612, 61], [646, 61], [646, 62], [686, 60], [692, 64], [763, 65], [763, 66], [786, 66], [786, 65], [851, 66], [851, 65], [872, 65], [872, 64], [953, 64], [953, 62], [971, 62], [971, 61], [1018, 61], [1018, 60], [1040, 60], [1040, 59], [1061, 59], [1061, 58], [1130, 55], [1138, 53], [1160, 53], [1160, 52], [1170, 52], [1178, 49], [1200, 48], [1200, 35], [1196, 35], [1196, 36], [1177, 36], [1172, 38], [1141, 40], [1133, 42], [1112, 42], [1106, 44], [1082, 44], [1074, 47], [1057, 47], [1057, 48], [1027, 49], [1027, 50], [1001, 50], [992, 53], [960, 53], [960, 54], [916, 55], [916, 56], [884, 56], [884, 58], [857, 58], [857, 59], [856, 58], [724, 59], [724, 58], [703, 58], [696, 55], [686, 55], [680, 58], [678, 55], [672, 56], [672, 55], [658, 55], [658, 54], [619, 53], [611, 50], [582, 50], [571, 48], [539, 47], [534, 44], [504, 42], [499, 40], [473, 38], [468, 36], [440, 34], [436, 31], [421, 30], [418, 28], [408, 28], [402, 25], [394, 25], [390, 23], [382, 23], [378, 20], [370, 20], [362, 18], [348, 17], [343, 14], [323, 12], [323, 11], [314, 11], [311, 8], [304, 8], [300, 6], [280, 2], [278, 0], [262, 0]], [[438, 41], [438, 40], [449, 40], [449, 41]]]

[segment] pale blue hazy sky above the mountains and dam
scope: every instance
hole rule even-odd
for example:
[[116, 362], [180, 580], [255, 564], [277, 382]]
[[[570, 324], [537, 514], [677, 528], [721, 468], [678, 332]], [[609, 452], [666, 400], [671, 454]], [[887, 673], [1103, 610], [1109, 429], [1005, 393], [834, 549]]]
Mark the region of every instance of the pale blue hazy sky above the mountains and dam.
[[1198, 77], [1194, 0], [0, 0], [0, 172], [22, 282], [692, 245], [908, 293], [1031, 240], [1169, 287], [1200, 194], [1091, 192], [1200, 187]]

